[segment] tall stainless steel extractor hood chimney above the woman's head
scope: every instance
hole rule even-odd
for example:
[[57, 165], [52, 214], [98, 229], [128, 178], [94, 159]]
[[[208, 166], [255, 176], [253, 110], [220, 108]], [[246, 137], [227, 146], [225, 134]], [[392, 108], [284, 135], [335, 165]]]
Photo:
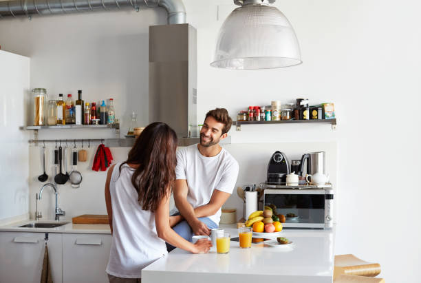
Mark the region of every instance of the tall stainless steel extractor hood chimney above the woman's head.
[[198, 136], [196, 30], [149, 27], [149, 123], [164, 122], [179, 137]]

